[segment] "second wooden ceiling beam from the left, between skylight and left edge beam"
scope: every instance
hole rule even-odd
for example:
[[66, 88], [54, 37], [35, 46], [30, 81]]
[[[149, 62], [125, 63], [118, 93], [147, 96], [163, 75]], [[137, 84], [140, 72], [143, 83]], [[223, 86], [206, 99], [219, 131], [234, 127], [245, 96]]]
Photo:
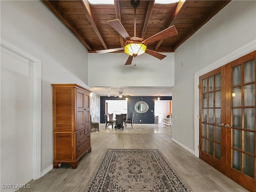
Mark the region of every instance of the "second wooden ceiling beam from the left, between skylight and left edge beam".
[[102, 43], [103, 47], [105, 49], [108, 49], [108, 46], [107, 46], [105, 40], [103, 39], [101, 32], [98, 30], [96, 22], [94, 21], [94, 19], [92, 17], [92, 12], [90, 10], [90, 4], [89, 4], [88, 0], [82, 0], [82, 1], [78, 1], [78, 2], [80, 2], [82, 9], [84, 10], [84, 14], [86, 15], [89, 22], [91, 23], [91, 26], [94, 29], [94, 31], [95, 31], [96, 35], [98, 36], [100, 42]]

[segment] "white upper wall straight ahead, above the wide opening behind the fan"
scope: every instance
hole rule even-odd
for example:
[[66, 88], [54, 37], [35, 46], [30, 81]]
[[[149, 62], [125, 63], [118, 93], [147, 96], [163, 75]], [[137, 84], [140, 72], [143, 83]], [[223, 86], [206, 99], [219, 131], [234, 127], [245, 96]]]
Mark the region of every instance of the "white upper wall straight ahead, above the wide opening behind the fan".
[[[124, 66], [125, 53], [88, 54], [89, 86], [174, 86], [174, 53], [159, 60], [148, 54]], [[136, 61], [136, 66], [134, 66]]]

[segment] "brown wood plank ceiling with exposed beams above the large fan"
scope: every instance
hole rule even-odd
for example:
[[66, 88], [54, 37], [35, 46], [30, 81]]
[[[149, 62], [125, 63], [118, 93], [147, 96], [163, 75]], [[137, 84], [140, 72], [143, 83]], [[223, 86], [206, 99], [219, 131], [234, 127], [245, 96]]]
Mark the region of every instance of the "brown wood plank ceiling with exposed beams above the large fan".
[[[124, 46], [125, 39], [108, 24], [108, 20], [118, 18], [130, 37], [134, 36], [134, 8], [130, 0], [114, 0], [114, 5], [89, 4], [87, 0], [42, 2], [78, 37], [88, 52]], [[157, 52], [174, 52], [229, 2], [180, 0], [172, 4], [155, 4], [154, 0], [141, 0], [136, 9], [136, 36], [146, 39], [174, 25], [178, 35], [150, 43], [147, 47]]]

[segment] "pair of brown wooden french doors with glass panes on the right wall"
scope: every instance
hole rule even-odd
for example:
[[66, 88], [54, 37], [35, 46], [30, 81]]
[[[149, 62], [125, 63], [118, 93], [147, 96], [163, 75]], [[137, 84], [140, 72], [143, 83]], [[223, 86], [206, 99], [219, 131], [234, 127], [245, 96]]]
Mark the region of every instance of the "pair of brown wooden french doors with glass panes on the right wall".
[[199, 157], [256, 191], [256, 51], [199, 78]]

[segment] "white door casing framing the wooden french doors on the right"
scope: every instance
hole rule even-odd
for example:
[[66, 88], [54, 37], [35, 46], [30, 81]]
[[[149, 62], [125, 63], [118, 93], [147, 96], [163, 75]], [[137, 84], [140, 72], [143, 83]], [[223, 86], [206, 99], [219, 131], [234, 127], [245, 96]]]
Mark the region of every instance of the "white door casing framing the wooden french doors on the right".
[[231, 61], [234, 61], [252, 51], [256, 50], [256, 39], [252, 40], [248, 44], [242, 46], [241, 48], [238, 48], [237, 50], [231, 52], [230, 54], [224, 56], [223, 58], [220, 58], [216, 62], [213, 62], [212, 64], [206, 66], [205, 68], [199, 70], [194, 74], [194, 155], [199, 157], [199, 121], [198, 121], [198, 114], [199, 114], [199, 77], [215, 70], [221, 66], [224, 66], [228, 64]]

